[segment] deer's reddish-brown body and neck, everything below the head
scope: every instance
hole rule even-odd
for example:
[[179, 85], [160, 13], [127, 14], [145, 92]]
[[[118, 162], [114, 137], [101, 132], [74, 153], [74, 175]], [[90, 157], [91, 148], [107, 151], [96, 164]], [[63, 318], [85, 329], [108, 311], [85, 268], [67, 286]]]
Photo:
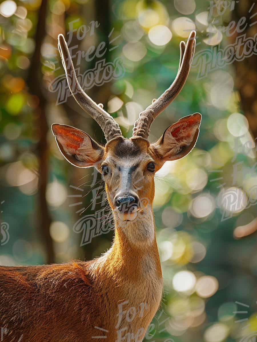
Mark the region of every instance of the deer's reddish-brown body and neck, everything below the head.
[[0, 275], [3, 341], [142, 341], [162, 293], [155, 237], [135, 245], [118, 228], [95, 260], [0, 266]]

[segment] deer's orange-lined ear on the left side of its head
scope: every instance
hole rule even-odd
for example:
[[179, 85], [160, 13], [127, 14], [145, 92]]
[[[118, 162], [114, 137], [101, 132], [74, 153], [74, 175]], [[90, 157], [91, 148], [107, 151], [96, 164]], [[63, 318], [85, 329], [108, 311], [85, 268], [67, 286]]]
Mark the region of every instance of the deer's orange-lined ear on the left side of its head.
[[71, 126], [52, 124], [52, 131], [62, 155], [80, 168], [96, 166], [103, 157], [103, 147], [91, 137]]

